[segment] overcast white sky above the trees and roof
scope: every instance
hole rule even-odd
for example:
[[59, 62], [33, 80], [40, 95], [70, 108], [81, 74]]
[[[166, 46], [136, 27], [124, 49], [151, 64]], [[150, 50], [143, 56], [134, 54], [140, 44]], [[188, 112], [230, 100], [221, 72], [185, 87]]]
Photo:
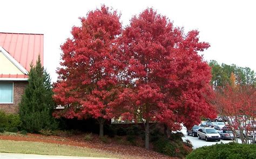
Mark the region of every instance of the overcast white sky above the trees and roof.
[[123, 25], [133, 15], [152, 7], [183, 26], [197, 29], [200, 40], [210, 42], [205, 60], [237, 64], [256, 71], [256, 1], [0, 1], [0, 32], [43, 33], [44, 66], [56, 81], [61, 50], [78, 17], [90, 10], [110, 6], [122, 13]]

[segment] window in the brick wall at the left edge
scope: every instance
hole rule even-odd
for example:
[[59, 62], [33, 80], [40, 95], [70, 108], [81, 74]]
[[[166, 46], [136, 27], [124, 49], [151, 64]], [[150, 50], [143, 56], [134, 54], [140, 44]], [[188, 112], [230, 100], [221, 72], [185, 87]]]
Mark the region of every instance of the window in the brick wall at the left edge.
[[0, 103], [14, 102], [14, 83], [0, 82]]

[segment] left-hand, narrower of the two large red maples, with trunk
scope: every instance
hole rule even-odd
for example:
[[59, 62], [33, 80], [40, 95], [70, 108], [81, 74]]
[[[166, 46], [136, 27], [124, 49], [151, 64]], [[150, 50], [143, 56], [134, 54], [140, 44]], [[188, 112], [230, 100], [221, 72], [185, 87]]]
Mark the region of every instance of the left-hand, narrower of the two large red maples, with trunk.
[[82, 26], [72, 27], [72, 38], [61, 46], [62, 66], [55, 83], [55, 100], [66, 107], [55, 113], [66, 118], [95, 118], [103, 136], [106, 109], [118, 91], [120, 63], [117, 36], [122, 32], [119, 15], [106, 6], [80, 18]]

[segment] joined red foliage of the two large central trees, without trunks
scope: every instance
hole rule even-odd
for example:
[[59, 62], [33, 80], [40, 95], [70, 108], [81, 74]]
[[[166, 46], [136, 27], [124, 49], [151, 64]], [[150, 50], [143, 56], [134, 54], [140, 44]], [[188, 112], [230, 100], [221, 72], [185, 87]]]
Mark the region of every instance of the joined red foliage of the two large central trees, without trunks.
[[68, 107], [66, 118], [122, 115], [178, 129], [214, 115], [207, 102], [211, 69], [198, 55], [210, 45], [199, 42], [198, 31], [184, 34], [152, 9], [133, 17], [123, 33], [117, 12], [105, 6], [80, 19], [61, 47], [53, 90]]

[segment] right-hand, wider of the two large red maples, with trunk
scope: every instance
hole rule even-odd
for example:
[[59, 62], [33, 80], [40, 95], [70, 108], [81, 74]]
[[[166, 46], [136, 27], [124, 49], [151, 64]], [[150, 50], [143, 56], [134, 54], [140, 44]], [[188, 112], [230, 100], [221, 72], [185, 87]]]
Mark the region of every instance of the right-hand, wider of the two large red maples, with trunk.
[[[124, 119], [140, 118], [149, 149], [149, 122], [172, 130], [181, 122], [191, 127], [201, 116], [215, 115], [208, 104], [211, 69], [198, 55], [210, 45], [199, 42], [198, 31], [187, 34], [153, 9], [131, 19], [120, 38], [127, 88], [111, 103]], [[122, 109], [117, 109], [122, 105]], [[116, 113], [118, 114], [118, 113]]]

